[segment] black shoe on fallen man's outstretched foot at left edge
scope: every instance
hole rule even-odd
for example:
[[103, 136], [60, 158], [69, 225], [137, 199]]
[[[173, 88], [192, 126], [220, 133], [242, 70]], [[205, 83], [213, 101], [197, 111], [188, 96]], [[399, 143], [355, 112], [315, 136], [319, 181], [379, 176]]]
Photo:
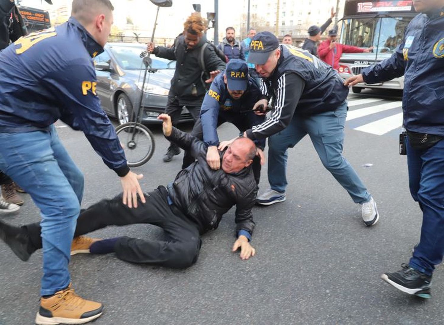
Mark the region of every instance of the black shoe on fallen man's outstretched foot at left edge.
[[14, 227], [0, 221], [0, 239], [2, 239], [15, 255], [22, 261], [28, 261], [31, 256], [32, 249], [28, 234], [23, 228]]

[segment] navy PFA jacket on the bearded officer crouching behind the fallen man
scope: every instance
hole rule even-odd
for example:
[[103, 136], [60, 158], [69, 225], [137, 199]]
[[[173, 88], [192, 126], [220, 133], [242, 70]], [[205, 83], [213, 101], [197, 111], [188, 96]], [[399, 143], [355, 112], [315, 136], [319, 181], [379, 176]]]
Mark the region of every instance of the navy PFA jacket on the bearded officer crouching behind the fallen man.
[[[203, 141], [208, 146], [219, 145], [216, 129], [221, 121], [233, 123], [242, 132], [265, 121], [265, 116], [253, 112], [254, 104], [262, 98], [262, 92], [256, 81], [249, 76], [245, 93], [241, 98], [234, 100], [228, 93], [223, 76], [224, 73], [220, 73], [214, 78], [203, 98], [200, 110]], [[261, 149], [265, 148], [265, 138], [255, 143]]]

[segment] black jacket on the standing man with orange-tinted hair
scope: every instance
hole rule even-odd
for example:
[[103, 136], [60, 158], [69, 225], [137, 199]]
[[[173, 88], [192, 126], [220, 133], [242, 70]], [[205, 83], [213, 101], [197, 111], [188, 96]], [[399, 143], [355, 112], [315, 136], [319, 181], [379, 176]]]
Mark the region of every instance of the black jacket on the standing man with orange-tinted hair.
[[[206, 89], [202, 80], [202, 68], [199, 64], [199, 55], [202, 45], [206, 42], [206, 36], [202, 35], [200, 42], [191, 50], [186, 48], [183, 36], [179, 36], [172, 47], [155, 47], [153, 54], [159, 58], [176, 60], [176, 70], [171, 79], [169, 96], [176, 97], [180, 105], [200, 106]], [[206, 72], [225, 70], [223, 62], [212, 46], [207, 46], [203, 53]], [[196, 86], [197, 93], [191, 93], [192, 85]]]

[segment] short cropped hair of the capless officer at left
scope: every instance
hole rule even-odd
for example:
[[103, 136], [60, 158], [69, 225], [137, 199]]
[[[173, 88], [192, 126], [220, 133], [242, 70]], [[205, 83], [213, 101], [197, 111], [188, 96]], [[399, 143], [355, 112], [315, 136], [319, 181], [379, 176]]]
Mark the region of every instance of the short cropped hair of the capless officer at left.
[[[81, 23], [91, 23], [96, 15], [114, 10], [110, 0], [73, 0], [71, 16]], [[108, 18], [108, 17], [107, 17]]]

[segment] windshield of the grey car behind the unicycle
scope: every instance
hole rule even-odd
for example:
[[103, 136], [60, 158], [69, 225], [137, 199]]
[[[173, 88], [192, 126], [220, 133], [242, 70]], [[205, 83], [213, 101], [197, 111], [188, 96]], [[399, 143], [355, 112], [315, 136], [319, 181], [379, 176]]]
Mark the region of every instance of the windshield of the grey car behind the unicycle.
[[[114, 54], [117, 63], [124, 70], [143, 70], [144, 66], [140, 53], [146, 51], [146, 47], [136, 46], [111, 46], [111, 52]], [[154, 55], [150, 56], [153, 69], [175, 69], [176, 61], [156, 58]]]

